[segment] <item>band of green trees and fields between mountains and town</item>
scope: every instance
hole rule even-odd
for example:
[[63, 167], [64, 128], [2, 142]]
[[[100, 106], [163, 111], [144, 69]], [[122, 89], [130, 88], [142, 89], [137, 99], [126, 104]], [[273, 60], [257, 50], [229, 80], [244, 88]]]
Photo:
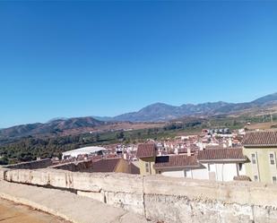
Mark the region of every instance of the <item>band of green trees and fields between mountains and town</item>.
[[[0, 165], [30, 161], [37, 158], [61, 157], [66, 150], [74, 150], [83, 146], [108, 145], [114, 143], [137, 143], [147, 139], [166, 140], [180, 134], [201, 133], [203, 128], [243, 128], [247, 122], [258, 123], [263, 116], [227, 117], [215, 116], [209, 119], [184, 119], [166, 124], [162, 128], [151, 128], [134, 131], [115, 131], [106, 133], [85, 133], [80, 135], [58, 137], [23, 137], [16, 142], [0, 146]], [[274, 116], [273, 120], [277, 120]]]

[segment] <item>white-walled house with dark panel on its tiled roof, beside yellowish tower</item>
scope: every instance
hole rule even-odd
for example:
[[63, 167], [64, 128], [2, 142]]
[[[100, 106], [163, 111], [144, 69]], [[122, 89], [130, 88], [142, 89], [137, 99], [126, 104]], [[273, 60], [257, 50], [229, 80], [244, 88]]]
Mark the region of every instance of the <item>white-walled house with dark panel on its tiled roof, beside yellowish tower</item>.
[[156, 174], [173, 177], [197, 178], [203, 165], [194, 156], [171, 155], [157, 157], [154, 164]]

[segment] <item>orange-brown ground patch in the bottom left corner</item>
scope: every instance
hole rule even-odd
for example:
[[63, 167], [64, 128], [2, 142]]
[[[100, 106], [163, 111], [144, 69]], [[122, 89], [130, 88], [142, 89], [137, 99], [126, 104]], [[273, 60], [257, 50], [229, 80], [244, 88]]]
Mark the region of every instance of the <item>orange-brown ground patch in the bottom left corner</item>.
[[1, 223], [70, 223], [48, 213], [0, 199]]

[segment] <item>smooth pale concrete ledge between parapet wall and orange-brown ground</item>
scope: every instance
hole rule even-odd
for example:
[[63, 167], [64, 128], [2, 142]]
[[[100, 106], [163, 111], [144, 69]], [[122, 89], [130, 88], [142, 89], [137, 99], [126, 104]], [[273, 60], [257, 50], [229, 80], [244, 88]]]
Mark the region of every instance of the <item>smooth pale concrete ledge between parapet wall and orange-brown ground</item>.
[[[143, 216], [117, 209], [88, 197], [38, 186], [11, 184], [3, 180], [0, 180], [0, 198], [46, 211], [73, 223], [151, 223]], [[22, 223], [2, 218], [1, 211], [0, 217], [0, 222], [4, 220], [4, 222]], [[24, 220], [24, 222], [27, 221]]]

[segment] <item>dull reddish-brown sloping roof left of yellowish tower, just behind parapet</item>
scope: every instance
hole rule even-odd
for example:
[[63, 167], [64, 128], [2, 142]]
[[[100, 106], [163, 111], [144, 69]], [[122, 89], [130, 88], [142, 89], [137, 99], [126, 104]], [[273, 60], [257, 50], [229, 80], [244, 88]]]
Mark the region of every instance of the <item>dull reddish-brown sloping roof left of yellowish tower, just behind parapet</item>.
[[119, 160], [120, 158], [97, 160], [92, 164], [93, 172], [114, 172], [117, 168]]

